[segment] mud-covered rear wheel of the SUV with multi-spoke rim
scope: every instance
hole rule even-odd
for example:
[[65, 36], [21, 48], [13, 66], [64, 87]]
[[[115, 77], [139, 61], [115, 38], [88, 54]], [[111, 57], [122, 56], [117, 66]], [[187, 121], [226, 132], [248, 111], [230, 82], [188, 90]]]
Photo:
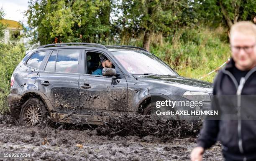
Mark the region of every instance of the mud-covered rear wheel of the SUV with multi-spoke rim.
[[38, 98], [29, 98], [21, 107], [20, 123], [26, 126], [36, 126], [46, 120], [46, 107]]

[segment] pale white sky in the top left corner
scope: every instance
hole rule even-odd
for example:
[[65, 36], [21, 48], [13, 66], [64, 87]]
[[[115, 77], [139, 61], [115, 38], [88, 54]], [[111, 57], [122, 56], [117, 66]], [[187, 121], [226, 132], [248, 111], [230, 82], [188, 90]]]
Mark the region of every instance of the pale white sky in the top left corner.
[[28, 8], [28, 0], [0, 0], [0, 8], [5, 13], [4, 19], [20, 21], [26, 25], [24, 11]]

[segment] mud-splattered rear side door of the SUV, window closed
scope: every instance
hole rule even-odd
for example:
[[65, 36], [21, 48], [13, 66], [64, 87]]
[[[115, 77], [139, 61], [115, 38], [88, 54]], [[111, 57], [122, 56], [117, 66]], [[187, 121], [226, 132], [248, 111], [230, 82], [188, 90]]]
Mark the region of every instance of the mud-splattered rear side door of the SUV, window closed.
[[82, 50], [53, 50], [40, 73], [39, 91], [57, 113], [79, 113], [79, 74]]

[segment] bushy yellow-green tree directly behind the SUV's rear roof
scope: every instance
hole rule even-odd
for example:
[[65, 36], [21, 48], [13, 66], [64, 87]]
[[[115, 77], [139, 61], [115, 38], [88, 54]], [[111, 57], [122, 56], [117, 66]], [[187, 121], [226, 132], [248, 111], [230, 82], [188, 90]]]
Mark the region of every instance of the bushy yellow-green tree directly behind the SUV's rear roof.
[[[110, 0], [30, 0], [34, 41], [101, 42], [110, 36]], [[57, 39], [56, 39], [57, 38]]]

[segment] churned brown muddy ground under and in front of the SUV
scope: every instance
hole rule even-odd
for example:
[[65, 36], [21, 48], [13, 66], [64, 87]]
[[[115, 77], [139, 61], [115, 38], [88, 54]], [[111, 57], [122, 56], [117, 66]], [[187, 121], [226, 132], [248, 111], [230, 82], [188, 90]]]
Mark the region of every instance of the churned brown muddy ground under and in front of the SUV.
[[[0, 153], [32, 153], [27, 160], [185, 161], [196, 144], [200, 122], [182, 124], [123, 116], [99, 127], [51, 121], [26, 127], [0, 115]], [[204, 160], [223, 160], [219, 143], [205, 152]]]

